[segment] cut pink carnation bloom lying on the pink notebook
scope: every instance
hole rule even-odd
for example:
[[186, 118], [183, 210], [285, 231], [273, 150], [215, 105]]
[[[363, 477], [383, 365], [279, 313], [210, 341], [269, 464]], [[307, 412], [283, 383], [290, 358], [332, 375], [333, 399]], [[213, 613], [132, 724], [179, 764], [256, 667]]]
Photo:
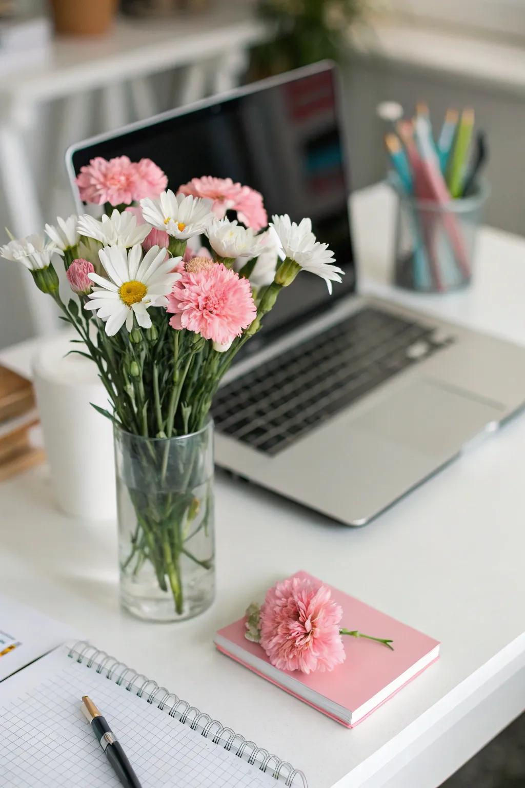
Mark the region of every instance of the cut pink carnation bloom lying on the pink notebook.
[[324, 585], [288, 578], [266, 594], [261, 646], [282, 671], [331, 671], [346, 657], [339, 634], [342, 608]]

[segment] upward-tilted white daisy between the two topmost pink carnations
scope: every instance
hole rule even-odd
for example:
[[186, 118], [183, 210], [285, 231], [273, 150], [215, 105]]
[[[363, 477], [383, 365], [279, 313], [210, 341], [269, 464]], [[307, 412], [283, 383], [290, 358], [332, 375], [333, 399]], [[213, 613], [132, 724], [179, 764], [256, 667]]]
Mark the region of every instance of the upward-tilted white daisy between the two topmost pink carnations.
[[141, 199], [142, 216], [157, 230], [168, 236], [187, 240], [199, 236], [215, 217], [212, 200], [193, 195], [175, 195], [171, 189], [163, 191], [157, 199]]

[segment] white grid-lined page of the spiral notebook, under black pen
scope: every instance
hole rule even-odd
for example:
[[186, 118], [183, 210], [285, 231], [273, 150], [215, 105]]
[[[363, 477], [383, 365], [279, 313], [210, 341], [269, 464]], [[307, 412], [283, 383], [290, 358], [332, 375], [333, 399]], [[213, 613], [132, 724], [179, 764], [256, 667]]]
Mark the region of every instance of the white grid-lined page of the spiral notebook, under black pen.
[[[83, 695], [89, 695], [108, 720], [143, 788], [275, 788], [270, 775], [93, 668], [64, 652], [49, 657], [58, 663], [55, 670], [48, 668], [29, 690], [27, 682], [20, 682], [22, 671], [13, 677], [19, 679], [17, 697], [0, 705], [2, 788], [121, 788], [80, 710]], [[0, 693], [0, 704], [4, 697]]]

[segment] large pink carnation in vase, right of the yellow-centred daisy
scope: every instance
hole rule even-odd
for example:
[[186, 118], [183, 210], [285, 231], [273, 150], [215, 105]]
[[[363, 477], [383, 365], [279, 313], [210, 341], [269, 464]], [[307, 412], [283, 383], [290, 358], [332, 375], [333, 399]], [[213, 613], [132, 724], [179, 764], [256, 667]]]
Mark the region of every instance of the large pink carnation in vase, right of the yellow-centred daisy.
[[173, 313], [172, 328], [221, 345], [240, 336], [257, 314], [250, 282], [222, 263], [184, 272], [168, 296], [168, 312]]

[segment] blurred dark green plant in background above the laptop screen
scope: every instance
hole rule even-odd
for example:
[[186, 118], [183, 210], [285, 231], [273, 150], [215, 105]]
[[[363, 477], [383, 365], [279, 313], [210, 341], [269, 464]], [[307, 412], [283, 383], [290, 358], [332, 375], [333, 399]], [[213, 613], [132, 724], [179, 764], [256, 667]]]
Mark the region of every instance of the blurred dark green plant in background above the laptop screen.
[[253, 50], [252, 76], [337, 60], [350, 25], [366, 6], [367, 0], [260, 0], [259, 13], [275, 25], [275, 37]]

